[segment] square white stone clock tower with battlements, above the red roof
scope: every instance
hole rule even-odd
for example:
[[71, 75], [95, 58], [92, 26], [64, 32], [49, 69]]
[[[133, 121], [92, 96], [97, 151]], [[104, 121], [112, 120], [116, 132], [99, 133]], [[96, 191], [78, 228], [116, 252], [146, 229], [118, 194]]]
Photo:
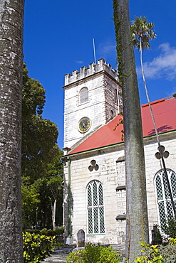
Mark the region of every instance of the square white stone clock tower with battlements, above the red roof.
[[104, 59], [65, 75], [64, 148], [113, 119], [122, 107], [116, 70]]

